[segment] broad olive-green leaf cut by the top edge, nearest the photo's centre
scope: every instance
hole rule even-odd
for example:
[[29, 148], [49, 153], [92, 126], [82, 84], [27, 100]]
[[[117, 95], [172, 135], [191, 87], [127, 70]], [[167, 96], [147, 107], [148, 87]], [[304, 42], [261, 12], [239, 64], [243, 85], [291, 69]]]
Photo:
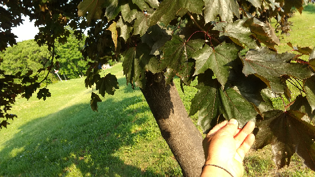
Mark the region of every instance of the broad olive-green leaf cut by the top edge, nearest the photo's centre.
[[158, 22], [167, 26], [176, 16], [182, 16], [187, 11], [202, 14], [204, 2], [202, 0], [163, 0], [151, 16], [150, 26]]

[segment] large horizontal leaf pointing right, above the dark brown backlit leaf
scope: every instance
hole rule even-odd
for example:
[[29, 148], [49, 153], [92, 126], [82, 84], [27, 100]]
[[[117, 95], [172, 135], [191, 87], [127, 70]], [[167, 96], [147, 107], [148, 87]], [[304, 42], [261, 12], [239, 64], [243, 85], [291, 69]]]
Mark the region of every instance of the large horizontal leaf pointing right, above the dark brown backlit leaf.
[[243, 73], [246, 76], [255, 74], [276, 93], [284, 93], [284, 83], [281, 80], [283, 75], [301, 80], [314, 75], [307, 65], [290, 63], [294, 57], [295, 54], [277, 54], [266, 47], [248, 51], [246, 58], [240, 56], [244, 63]]

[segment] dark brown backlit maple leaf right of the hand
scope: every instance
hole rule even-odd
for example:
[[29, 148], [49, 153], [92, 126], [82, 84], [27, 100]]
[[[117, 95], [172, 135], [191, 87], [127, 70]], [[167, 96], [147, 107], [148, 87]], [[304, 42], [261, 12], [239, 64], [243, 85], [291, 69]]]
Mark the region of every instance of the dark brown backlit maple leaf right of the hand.
[[259, 131], [253, 148], [263, 148], [270, 144], [273, 161], [278, 168], [290, 164], [296, 152], [304, 159], [304, 164], [315, 170], [315, 127], [302, 120], [305, 114], [298, 111], [273, 110], [264, 113], [264, 118], [256, 123]]

